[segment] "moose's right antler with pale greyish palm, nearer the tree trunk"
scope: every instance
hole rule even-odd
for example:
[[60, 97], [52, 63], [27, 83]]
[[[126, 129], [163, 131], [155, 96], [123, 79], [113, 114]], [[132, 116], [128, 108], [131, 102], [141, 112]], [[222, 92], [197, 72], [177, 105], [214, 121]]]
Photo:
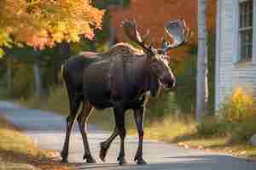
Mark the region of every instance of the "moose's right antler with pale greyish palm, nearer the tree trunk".
[[165, 30], [166, 33], [173, 39], [172, 44], [165, 39], [162, 40], [162, 48], [160, 50], [165, 53], [172, 48], [177, 48], [183, 43], [188, 42], [192, 33], [189, 30], [189, 27], [186, 25], [185, 20], [167, 22], [165, 25]]

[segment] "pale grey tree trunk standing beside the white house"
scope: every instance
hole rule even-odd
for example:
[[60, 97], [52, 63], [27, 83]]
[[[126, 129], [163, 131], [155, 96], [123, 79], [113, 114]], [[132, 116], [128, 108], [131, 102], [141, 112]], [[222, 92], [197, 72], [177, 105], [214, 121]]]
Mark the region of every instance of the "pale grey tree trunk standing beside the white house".
[[196, 80], [196, 121], [202, 122], [206, 114], [207, 92], [207, 0], [198, 0], [198, 52]]

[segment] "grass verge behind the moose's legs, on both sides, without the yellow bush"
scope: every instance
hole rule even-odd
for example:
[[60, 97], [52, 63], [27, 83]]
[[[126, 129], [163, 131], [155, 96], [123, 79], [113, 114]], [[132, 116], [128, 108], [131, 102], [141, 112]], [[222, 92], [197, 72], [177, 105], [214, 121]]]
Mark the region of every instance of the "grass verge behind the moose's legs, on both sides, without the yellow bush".
[[[37, 99], [23, 99], [23, 105], [43, 110], [56, 111], [62, 115], [68, 113], [68, 99], [65, 88], [51, 88], [44, 103]], [[162, 108], [160, 106], [159, 110]], [[129, 111], [128, 111], [129, 112]], [[167, 143], [177, 143], [195, 149], [229, 152], [236, 156], [255, 156], [256, 147], [248, 140], [256, 133], [255, 122], [225, 122], [216, 116], [206, 117], [201, 124], [195, 122], [191, 114], [158, 115], [157, 107], [146, 112], [144, 136]], [[132, 114], [125, 114], [125, 127], [131, 135], [137, 135]], [[114, 121], [111, 110], [94, 111], [90, 123], [105, 130], [112, 130]]]

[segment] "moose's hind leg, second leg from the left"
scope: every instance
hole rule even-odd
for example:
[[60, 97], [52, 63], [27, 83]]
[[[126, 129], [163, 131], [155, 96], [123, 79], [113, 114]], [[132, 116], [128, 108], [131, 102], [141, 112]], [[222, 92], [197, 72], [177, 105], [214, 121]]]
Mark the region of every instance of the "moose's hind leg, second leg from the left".
[[87, 163], [96, 163], [95, 159], [91, 156], [90, 148], [88, 144], [87, 134], [86, 134], [86, 122], [90, 113], [92, 111], [92, 105], [89, 102], [83, 103], [83, 109], [78, 116], [79, 129], [82, 134], [83, 144], [84, 144], [84, 160], [86, 159]]

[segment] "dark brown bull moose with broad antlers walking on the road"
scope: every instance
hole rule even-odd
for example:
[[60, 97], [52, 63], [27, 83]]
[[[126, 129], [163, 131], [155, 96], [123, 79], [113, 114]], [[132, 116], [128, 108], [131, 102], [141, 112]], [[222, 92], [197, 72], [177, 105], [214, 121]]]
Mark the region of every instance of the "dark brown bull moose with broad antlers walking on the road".
[[[134, 111], [138, 133], [138, 148], [134, 161], [137, 161], [138, 165], [146, 163], [143, 159], [143, 115], [148, 92], [155, 96], [160, 86], [167, 89], [174, 88], [176, 78], [168, 65], [167, 52], [187, 42], [190, 31], [184, 20], [170, 21], [165, 28], [173, 42], [163, 39], [162, 48], [154, 48], [145, 43], [149, 31], [141, 37], [135, 20], [125, 20], [122, 26], [125, 35], [143, 50], [121, 42], [106, 53], [83, 52], [67, 59], [62, 65], [70, 113], [67, 116], [67, 131], [61, 151], [61, 162], [67, 162], [69, 137], [75, 120], [79, 122], [79, 130], [83, 138], [84, 160], [87, 163], [96, 162], [90, 153], [86, 122], [93, 108], [101, 110], [113, 107], [115, 127], [110, 137], [101, 143], [100, 158], [105, 161], [110, 144], [119, 135], [119, 165], [126, 163], [125, 111], [131, 109]], [[78, 113], [81, 103], [82, 110]]]

